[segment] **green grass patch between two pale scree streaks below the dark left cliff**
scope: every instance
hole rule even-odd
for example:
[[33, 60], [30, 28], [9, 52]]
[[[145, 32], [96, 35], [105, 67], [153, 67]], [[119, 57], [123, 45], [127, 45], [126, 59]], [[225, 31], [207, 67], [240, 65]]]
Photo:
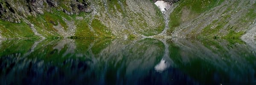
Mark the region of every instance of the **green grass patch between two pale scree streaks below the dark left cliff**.
[[72, 16], [65, 14], [63, 11], [57, 11], [55, 8], [52, 8], [52, 13], [45, 11], [42, 15], [39, 14], [37, 17], [29, 16], [27, 19], [34, 24], [38, 33], [42, 34], [44, 37], [58, 38], [61, 37], [61, 35], [58, 34], [53, 26], [58, 26], [58, 24], [60, 24], [64, 27], [64, 31], [67, 31], [68, 26], [63, 18], [76, 21], [75, 17], [72, 19]]

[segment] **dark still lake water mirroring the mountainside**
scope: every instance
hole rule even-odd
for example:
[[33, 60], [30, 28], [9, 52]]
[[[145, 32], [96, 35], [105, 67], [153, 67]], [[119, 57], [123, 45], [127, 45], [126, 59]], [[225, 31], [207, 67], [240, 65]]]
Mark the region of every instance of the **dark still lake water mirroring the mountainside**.
[[241, 40], [0, 40], [0, 85], [256, 84]]

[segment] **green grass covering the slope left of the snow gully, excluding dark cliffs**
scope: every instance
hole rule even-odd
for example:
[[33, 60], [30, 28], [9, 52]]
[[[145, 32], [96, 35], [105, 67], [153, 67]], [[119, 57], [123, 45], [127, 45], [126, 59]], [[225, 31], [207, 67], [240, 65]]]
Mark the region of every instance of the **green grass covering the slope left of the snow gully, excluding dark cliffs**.
[[[72, 36], [71, 38], [114, 37], [112, 31], [116, 28], [113, 28], [111, 26], [105, 26], [106, 23], [115, 22], [114, 20], [112, 20], [111, 22], [108, 21], [110, 20], [110, 18], [122, 20], [121, 22], [116, 23], [117, 25], [121, 26], [121, 24], [119, 23], [128, 22], [124, 25], [134, 28], [134, 30], [131, 28], [127, 28], [124, 31], [118, 30], [117, 33], [120, 33], [120, 36], [128, 34], [128, 37], [136, 37], [136, 34], [133, 34], [134, 31], [137, 34], [152, 36], [159, 34], [164, 29], [163, 15], [157, 7], [154, 7], [157, 16], [153, 17], [152, 19], [152, 22], [156, 24], [156, 27], [152, 27], [149, 26], [147, 20], [143, 18], [149, 18], [149, 16], [145, 16], [145, 14], [147, 14], [146, 12], [148, 11], [145, 11], [142, 7], [139, 7], [140, 9], [138, 10], [143, 12], [134, 13], [128, 8], [126, 0], [120, 0], [120, 2], [116, 0], [107, 1], [107, 6], [109, 9], [108, 11], [111, 17], [102, 17], [102, 15], [107, 15], [105, 14], [105, 12], [103, 12], [105, 11], [105, 7], [102, 1], [96, 3], [96, 6], [99, 6], [99, 9], [97, 9], [97, 11], [100, 13], [99, 15], [97, 14], [96, 17], [92, 17], [91, 13], [81, 12], [79, 15], [68, 15], [65, 14], [63, 11], [58, 11], [62, 10], [62, 8], [66, 11], [71, 11], [72, 9], [69, 7], [69, 3], [69, 0], [61, 1], [61, 3], [59, 3], [59, 6], [56, 8], [51, 8], [50, 12], [46, 11], [45, 9], [44, 14], [38, 14], [37, 17], [28, 16], [26, 17], [26, 19], [35, 26], [35, 29], [38, 31], [39, 34], [42, 34], [46, 38], [62, 37], [62, 35], [58, 33], [58, 30], [54, 28], [54, 26], [59, 26], [59, 24], [64, 28], [64, 31], [67, 32], [68, 25], [63, 20], [63, 18], [69, 21], [73, 21], [76, 26], [75, 36]], [[152, 6], [154, 6], [154, 3], [152, 1], [151, 4]], [[44, 3], [44, 6], [47, 7], [47, 3]], [[117, 17], [119, 16], [117, 15], [118, 13], [121, 13], [121, 16], [123, 18]], [[77, 19], [77, 17], [82, 17], [82, 19]], [[92, 23], [90, 23], [91, 19]], [[106, 22], [102, 22], [102, 20], [105, 20]], [[90, 30], [89, 24], [91, 25], [93, 31]], [[35, 34], [32, 32], [31, 28], [24, 22], [15, 24], [0, 20], [0, 26], [0, 31], [2, 31], [1, 35], [5, 38], [36, 37]]]

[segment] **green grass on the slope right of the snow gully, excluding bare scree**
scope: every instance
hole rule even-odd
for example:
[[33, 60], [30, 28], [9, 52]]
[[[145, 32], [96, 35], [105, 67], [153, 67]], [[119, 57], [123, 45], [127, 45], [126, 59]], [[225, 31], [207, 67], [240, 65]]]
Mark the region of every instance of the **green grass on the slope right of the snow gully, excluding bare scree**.
[[[230, 0], [227, 0], [230, 1]], [[242, 34], [244, 34], [244, 30], [248, 29], [248, 24], [253, 22], [253, 19], [256, 18], [255, 14], [255, 3], [253, 6], [246, 7], [245, 10], [241, 10], [242, 7], [247, 5], [242, 5], [241, 7], [238, 6], [239, 1], [232, 1], [234, 3], [226, 4], [221, 8], [226, 8], [225, 11], [222, 13], [223, 16], [219, 17], [217, 20], [211, 20], [210, 24], [207, 24], [207, 26], [200, 26], [203, 25], [205, 22], [198, 22], [198, 26], [192, 27], [192, 31], [189, 34], [186, 34], [188, 37], [200, 37], [200, 38], [239, 38]], [[245, 1], [244, 1], [245, 2]], [[248, 2], [248, 1], [247, 1]], [[219, 9], [215, 8], [217, 6], [220, 6], [221, 4], [225, 3], [224, 0], [181, 0], [180, 2], [176, 3], [178, 6], [174, 9], [172, 14], [170, 15], [170, 22], [169, 22], [169, 31], [168, 33], [175, 32], [177, 28], [181, 27], [182, 23], [186, 23], [187, 21], [197, 22], [198, 16], [201, 14], [207, 14], [210, 13], [212, 10], [217, 10], [221, 12]], [[234, 8], [235, 7], [235, 8]], [[187, 9], [191, 11], [186, 20], [183, 21], [181, 19], [183, 11]], [[248, 10], [247, 10], [248, 9]], [[211, 10], [211, 11], [210, 11]], [[222, 9], [221, 9], [222, 10]], [[230, 24], [230, 17], [234, 17], [233, 15], [236, 14], [236, 11], [244, 11], [243, 14], [241, 14], [241, 17], [238, 21], [235, 22], [235, 24]], [[218, 13], [213, 13], [209, 15], [218, 15]], [[207, 15], [205, 15], [207, 16]], [[208, 19], [210, 19], [211, 16], [207, 16]], [[201, 18], [201, 17], [199, 17]], [[205, 18], [205, 17], [204, 17]], [[205, 19], [207, 19], [205, 18]], [[245, 20], [246, 19], [246, 20]], [[230, 24], [230, 25], [229, 25]], [[227, 27], [225, 27], [228, 25]], [[240, 25], [240, 26], [239, 26]], [[203, 27], [203, 30], [198, 31]], [[189, 28], [185, 28], [185, 31]], [[222, 30], [222, 31], [221, 31]], [[224, 33], [224, 31], [227, 31], [227, 33]], [[196, 32], [199, 32], [198, 34]]]

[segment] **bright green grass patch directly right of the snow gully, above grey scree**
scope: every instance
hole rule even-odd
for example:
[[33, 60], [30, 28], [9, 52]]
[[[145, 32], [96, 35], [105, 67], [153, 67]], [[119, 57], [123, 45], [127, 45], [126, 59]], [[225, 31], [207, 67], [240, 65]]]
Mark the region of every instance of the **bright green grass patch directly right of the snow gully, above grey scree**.
[[186, 8], [191, 11], [188, 15], [189, 20], [197, 17], [196, 15], [201, 14], [205, 11], [210, 10], [218, 5], [220, 5], [224, 0], [180, 0], [179, 2], [175, 3], [178, 5], [172, 14], [170, 14], [170, 22], [169, 22], [169, 30], [167, 33], [172, 33], [176, 27], [180, 26], [183, 21], [181, 21], [182, 11]]

